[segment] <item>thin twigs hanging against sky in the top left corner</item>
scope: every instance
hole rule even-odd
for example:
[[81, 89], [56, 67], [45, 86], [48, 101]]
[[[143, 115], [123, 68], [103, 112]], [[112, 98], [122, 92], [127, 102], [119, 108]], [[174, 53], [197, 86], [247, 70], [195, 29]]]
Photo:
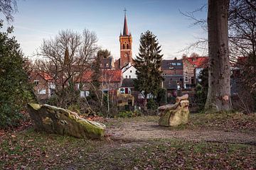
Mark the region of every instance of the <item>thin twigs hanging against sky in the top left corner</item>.
[[7, 21], [14, 21], [13, 14], [17, 11], [16, 0], [0, 0], [0, 12], [4, 13]]

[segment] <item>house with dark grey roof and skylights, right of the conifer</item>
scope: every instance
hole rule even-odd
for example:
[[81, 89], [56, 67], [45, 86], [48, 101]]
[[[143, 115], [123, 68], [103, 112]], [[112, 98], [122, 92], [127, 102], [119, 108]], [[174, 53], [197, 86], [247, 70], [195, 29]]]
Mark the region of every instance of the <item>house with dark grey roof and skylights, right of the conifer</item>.
[[163, 60], [161, 63], [164, 81], [162, 87], [167, 90], [168, 96], [177, 96], [178, 90], [183, 85], [183, 62], [182, 60]]

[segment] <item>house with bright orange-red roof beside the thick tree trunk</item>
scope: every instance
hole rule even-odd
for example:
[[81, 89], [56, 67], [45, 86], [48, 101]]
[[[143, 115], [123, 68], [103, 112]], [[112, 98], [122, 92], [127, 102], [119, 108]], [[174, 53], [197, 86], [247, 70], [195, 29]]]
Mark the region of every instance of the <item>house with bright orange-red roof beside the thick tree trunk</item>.
[[[183, 57], [183, 87], [191, 89], [196, 86], [195, 69], [208, 63], [208, 57]], [[199, 70], [197, 71], [197, 73]]]

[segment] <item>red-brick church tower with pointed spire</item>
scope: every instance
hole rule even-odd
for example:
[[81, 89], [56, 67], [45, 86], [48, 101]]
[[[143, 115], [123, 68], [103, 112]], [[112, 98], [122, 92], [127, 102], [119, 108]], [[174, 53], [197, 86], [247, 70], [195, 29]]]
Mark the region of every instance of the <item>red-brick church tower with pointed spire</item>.
[[132, 63], [132, 35], [128, 31], [126, 9], [124, 9], [124, 30], [120, 33], [120, 69]]

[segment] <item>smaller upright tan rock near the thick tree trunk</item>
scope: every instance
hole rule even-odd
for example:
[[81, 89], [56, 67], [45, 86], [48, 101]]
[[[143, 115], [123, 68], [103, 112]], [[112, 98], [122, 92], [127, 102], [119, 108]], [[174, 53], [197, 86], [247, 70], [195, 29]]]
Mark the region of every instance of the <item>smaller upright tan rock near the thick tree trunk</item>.
[[188, 123], [188, 94], [176, 98], [174, 105], [165, 105], [158, 108], [159, 125], [176, 126]]

